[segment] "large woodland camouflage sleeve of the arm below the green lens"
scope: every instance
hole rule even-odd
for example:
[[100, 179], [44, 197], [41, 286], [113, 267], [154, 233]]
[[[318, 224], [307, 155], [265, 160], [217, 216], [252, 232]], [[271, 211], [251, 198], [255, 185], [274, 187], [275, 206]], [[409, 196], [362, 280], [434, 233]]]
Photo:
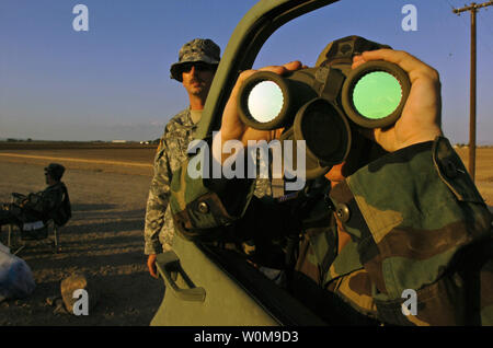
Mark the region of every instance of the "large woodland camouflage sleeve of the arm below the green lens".
[[[492, 216], [447, 139], [385, 155], [330, 196], [356, 244], [360, 276], [370, 279], [379, 320], [492, 324]], [[348, 297], [363, 283], [354, 279]], [[416, 291], [416, 315], [402, 312], [406, 289]]]

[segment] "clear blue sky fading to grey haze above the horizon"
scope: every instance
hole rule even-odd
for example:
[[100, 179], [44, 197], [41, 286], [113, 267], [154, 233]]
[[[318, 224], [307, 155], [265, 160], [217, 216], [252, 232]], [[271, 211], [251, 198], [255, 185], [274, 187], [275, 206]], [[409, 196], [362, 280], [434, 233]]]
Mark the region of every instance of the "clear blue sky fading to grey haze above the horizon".
[[[271, 0], [263, 0], [271, 1]], [[478, 3], [485, 2], [477, 1]], [[89, 31], [76, 32], [76, 4]], [[213, 38], [223, 50], [253, 0], [0, 0], [0, 138], [148, 140], [187, 105], [169, 68], [180, 47]], [[280, 27], [254, 67], [314, 65], [347, 35], [404, 49], [440, 72], [443, 125], [469, 140], [470, 14], [465, 0], [342, 0]], [[405, 4], [416, 31], [404, 31]], [[478, 13], [478, 143], [493, 143], [493, 5]]]

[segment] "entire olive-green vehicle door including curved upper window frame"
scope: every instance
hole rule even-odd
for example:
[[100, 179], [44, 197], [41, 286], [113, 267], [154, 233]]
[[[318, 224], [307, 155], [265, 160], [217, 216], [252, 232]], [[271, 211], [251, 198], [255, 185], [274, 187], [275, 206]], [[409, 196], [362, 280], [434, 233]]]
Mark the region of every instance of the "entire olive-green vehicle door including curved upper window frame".
[[[250, 69], [265, 40], [282, 25], [337, 0], [259, 1], [234, 30], [213, 81], [197, 130], [204, 139], [220, 125], [239, 71]], [[175, 236], [158, 270], [164, 299], [151, 325], [323, 325], [285, 290], [234, 253]]]

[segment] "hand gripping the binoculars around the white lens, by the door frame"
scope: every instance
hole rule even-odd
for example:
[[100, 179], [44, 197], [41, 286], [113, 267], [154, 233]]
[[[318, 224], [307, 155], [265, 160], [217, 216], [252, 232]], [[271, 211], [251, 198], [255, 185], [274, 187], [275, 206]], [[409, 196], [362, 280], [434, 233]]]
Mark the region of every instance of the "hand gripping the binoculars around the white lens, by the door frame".
[[278, 74], [285, 74], [288, 71], [295, 71], [302, 68], [300, 61], [291, 61], [284, 66], [271, 66], [259, 70], [245, 70], [241, 72], [240, 77], [231, 91], [228, 103], [226, 104], [225, 112], [222, 114], [221, 123], [221, 140], [225, 143], [228, 140], [240, 140], [243, 146], [248, 146], [249, 140], [265, 140], [270, 142], [273, 139], [279, 138], [283, 129], [276, 130], [259, 130], [245, 126], [238, 114], [238, 92], [241, 84], [256, 71], [272, 71]]

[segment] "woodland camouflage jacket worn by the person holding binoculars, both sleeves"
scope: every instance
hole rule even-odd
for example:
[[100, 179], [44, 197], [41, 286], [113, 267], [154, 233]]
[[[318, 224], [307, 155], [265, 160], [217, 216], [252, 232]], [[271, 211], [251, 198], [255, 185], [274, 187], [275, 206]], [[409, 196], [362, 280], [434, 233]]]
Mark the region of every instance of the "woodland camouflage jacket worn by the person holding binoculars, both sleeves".
[[[192, 179], [186, 164], [171, 185], [180, 234], [276, 239], [298, 229], [291, 292], [319, 314], [323, 309], [322, 317], [355, 311], [395, 325], [493, 325], [492, 214], [446, 138], [379, 158], [299, 219], [252, 197], [249, 181]], [[330, 209], [351, 235], [339, 254]], [[402, 308], [409, 290], [416, 294], [411, 315]]]

